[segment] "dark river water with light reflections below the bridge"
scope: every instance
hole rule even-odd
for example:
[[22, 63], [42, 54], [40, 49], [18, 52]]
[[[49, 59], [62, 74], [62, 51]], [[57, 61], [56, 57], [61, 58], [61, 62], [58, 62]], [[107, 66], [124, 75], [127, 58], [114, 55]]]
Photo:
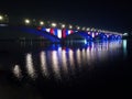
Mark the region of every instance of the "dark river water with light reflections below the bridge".
[[0, 99], [86, 99], [127, 91], [131, 43], [0, 42]]

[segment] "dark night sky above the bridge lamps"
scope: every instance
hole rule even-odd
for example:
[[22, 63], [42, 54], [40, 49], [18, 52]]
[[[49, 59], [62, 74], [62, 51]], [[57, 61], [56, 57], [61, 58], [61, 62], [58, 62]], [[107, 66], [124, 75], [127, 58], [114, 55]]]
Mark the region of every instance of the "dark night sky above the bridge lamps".
[[132, 31], [132, 6], [127, 0], [3, 0], [0, 12], [118, 32]]

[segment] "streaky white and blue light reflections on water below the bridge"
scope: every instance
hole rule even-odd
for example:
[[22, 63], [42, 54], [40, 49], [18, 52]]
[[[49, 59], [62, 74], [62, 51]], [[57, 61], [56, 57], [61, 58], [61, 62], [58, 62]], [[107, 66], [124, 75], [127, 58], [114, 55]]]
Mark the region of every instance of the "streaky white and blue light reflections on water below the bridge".
[[[25, 68], [26, 74], [31, 78], [35, 79], [37, 76], [37, 70], [35, 70], [34, 62], [36, 63], [36, 69], [41, 68], [41, 74], [44, 77], [54, 76], [55, 79], [62, 79], [65, 76], [76, 73], [76, 69], [81, 69], [84, 67], [94, 67], [95, 63], [101, 63], [107, 59], [113, 59], [123, 51], [127, 53], [127, 42], [114, 41], [114, 42], [102, 42], [102, 43], [91, 43], [85, 47], [66, 47], [55, 45], [52, 50], [43, 50], [38, 53], [40, 57], [32, 57], [34, 53], [26, 53], [25, 55]], [[13, 68], [13, 74], [15, 77], [21, 77], [20, 66], [15, 65]]]

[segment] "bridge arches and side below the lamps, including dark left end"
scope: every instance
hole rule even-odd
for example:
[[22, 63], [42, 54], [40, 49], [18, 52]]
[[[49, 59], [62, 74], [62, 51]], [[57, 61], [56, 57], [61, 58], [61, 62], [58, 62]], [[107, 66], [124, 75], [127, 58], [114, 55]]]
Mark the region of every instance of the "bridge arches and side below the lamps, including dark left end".
[[[122, 34], [118, 33], [106, 33], [98, 31], [79, 31], [79, 30], [68, 30], [68, 29], [57, 29], [57, 28], [44, 28], [44, 26], [6, 26], [0, 28], [1, 33], [6, 36], [10, 35], [12, 38], [37, 38], [47, 40], [52, 43], [59, 43], [65, 41], [79, 41], [85, 40], [96, 41], [96, 40], [121, 40]], [[7, 34], [6, 34], [7, 33]], [[36, 36], [36, 37], [35, 37]]]

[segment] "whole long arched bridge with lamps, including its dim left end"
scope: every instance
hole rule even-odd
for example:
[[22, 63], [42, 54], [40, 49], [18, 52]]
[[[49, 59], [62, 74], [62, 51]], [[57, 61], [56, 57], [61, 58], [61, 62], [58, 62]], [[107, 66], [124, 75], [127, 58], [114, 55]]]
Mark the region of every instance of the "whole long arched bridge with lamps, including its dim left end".
[[[2, 22], [2, 21], [1, 21]], [[45, 24], [46, 23], [46, 24]], [[10, 23], [8, 23], [10, 24]], [[43, 22], [36, 20], [25, 19], [23, 23], [15, 25], [4, 25], [3, 22], [0, 23], [0, 32], [2, 35], [12, 36], [12, 38], [36, 38], [37, 40], [47, 40], [52, 43], [59, 43], [65, 41], [79, 41], [85, 40], [96, 41], [96, 40], [121, 40], [122, 33], [99, 30], [95, 28], [86, 28], [78, 25], [65, 25], [63, 23], [54, 23], [54, 22]]]

